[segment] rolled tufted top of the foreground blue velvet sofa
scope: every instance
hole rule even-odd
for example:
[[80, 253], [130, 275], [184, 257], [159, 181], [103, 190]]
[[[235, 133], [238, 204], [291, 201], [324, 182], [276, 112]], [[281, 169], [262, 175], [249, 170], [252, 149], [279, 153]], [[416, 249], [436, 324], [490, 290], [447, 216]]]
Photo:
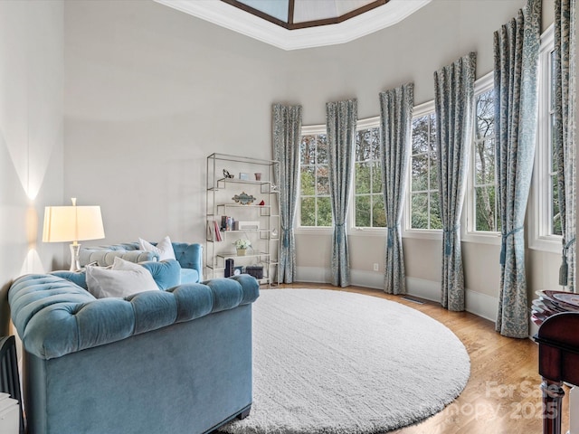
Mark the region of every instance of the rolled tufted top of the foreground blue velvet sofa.
[[70, 280], [35, 274], [17, 278], [8, 293], [24, 348], [43, 359], [192, 321], [250, 304], [257, 297], [259, 283], [248, 275], [141, 292], [124, 299], [96, 299]]

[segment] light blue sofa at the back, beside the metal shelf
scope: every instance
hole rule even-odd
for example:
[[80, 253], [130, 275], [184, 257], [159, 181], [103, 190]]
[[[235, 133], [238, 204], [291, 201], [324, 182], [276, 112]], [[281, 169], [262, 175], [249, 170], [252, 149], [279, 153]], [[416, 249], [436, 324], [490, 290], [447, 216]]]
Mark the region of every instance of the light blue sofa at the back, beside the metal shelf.
[[[156, 245], [157, 243], [152, 242]], [[186, 242], [172, 242], [175, 258], [181, 265], [181, 283], [195, 283], [203, 280], [203, 244], [188, 244]], [[123, 242], [108, 246], [81, 247], [79, 262], [81, 267], [96, 262], [100, 267], [112, 265], [115, 257], [143, 262], [158, 260], [157, 253], [140, 250], [138, 242]]]

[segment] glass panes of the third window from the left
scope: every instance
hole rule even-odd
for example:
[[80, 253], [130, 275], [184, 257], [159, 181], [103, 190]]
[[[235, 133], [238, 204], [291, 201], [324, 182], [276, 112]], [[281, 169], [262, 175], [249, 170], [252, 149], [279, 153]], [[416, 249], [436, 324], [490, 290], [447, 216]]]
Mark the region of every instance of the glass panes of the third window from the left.
[[[418, 113], [417, 113], [418, 112]], [[433, 104], [415, 109], [410, 173], [409, 229], [441, 230]]]

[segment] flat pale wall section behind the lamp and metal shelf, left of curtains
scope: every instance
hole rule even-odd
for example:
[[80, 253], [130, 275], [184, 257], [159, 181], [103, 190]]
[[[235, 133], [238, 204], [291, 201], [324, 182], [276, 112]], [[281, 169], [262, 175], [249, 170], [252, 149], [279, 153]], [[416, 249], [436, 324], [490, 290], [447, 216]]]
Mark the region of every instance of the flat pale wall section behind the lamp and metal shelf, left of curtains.
[[284, 52], [153, 2], [65, 6], [65, 194], [103, 242], [204, 241], [205, 157], [271, 158]]

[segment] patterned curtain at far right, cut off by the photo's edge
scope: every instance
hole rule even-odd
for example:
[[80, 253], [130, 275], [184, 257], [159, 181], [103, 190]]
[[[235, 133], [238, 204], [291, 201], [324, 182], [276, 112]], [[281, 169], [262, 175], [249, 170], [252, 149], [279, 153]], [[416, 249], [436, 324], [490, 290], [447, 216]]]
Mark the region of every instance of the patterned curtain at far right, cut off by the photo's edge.
[[559, 185], [563, 262], [559, 284], [575, 290], [575, 1], [555, 0], [553, 145]]

